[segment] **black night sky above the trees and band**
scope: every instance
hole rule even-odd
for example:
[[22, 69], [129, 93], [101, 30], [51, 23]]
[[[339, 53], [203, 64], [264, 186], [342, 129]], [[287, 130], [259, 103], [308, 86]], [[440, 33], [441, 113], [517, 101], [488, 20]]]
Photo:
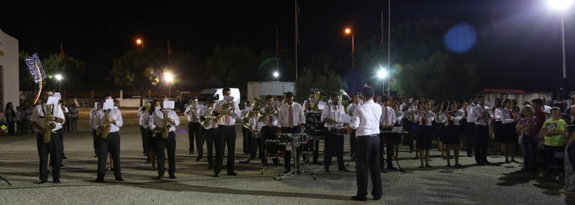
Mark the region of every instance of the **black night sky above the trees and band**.
[[[102, 72], [134, 49], [137, 37], [151, 48], [166, 48], [169, 39], [173, 52], [192, 53], [204, 63], [218, 45], [273, 49], [278, 29], [279, 46], [294, 51], [294, 1], [93, 2], [3, 1], [0, 29], [19, 40], [20, 50], [42, 56], [59, 52], [62, 42], [66, 55]], [[343, 29], [350, 26], [356, 41], [367, 40], [379, 33], [381, 9], [387, 27], [388, 1], [298, 3], [300, 69], [314, 53], [350, 61]], [[565, 16], [568, 78], [575, 76], [574, 10]], [[562, 78], [560, 14], [542, 0], [396, 0], [391, 12], [392, 26], [421, 18], [473, 25], [486, 40], [476, 47], [490, 50], [485, 60], [493, 65], [482, 71], [489, 74], [482, 88], [550, 91], [551, 80]]]

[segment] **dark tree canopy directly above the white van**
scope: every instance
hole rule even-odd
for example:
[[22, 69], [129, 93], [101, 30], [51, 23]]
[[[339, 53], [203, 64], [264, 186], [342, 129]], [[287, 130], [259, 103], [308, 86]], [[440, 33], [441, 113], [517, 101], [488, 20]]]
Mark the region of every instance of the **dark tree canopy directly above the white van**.
[[258, 57], [246, 45], [216, 47], [206, 59], [206, 70], [215, 75], [224, 87], [244, 87], [254, 79]]

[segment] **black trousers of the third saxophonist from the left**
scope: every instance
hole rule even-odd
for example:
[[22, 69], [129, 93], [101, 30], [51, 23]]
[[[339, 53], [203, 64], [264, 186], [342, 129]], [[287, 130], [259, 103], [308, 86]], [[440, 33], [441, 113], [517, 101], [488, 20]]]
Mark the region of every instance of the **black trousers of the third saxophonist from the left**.
[[168, 152], [168, 175], [174, 176], [176, 173], [176, 135], [170, 131], [168, 138], [162, 138], [162, 133], [155, 133], [156, 138], [156, 157], [158, 158], [158, 176], [164, 176], [166, 154]]

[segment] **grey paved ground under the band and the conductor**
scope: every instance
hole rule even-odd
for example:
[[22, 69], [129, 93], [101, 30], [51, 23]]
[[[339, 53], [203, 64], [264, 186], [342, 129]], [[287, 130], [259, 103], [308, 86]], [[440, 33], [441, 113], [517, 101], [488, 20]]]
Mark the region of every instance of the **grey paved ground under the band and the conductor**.
[[[407, 173], [381, 173], [384, 196], [379, 201], [349, 200], [356, 193], [354, 163], [348, 167], [350, 172], [330, 173], [321, 172], [323, 166], [313, 165], [317, 180], [299, 176], [277, 181], [274, 169], [261, 175], [257, 161], [236, 163], [239, 176], [213, 178], [205, 159], [196, 162], [196, 154], [186, 154], [188, 142], [183, 128], [177, 131], [175, 180], [155, 180], [157, 173], [143, 164], [140, 134], [135, 126], [120, 131], [122, 182], [114, 181], [112, 172], [107, 173], [103, 183], [94, 182], [97, 158], [93, 157], [87, 129], [64, 135], [68, 160], [64, 160], [62, 184], [34, 184], [39, 175], [35, 136], [1, 137], [0, 175], [13, 185], [0, 181], [0, 204], [575, 204], [573, 196], [558, 192], [561, 185], [519, 173], [520, 164], [503, 164], [502, 157], [489, 157], [496, 163], [493, 166], [476, 166], [473, 159], [461, 157], [465, 167], [447, 168], [439, 153], [432, 150], [434, 168], [422, 169], [416, 168], [419, 160], [407, 159], [414, 154], [405, 147], [401, 148], [400, 158], [404, 159], [399, 163]], [[238, 134], [236, 153], [241, 153], [241, 132]], [[347, 143], [345, 147], [348, 152]], [[236, 158], [248, 156], [240, 154]], [[332, 170], [337, 169], [332, 165]]]

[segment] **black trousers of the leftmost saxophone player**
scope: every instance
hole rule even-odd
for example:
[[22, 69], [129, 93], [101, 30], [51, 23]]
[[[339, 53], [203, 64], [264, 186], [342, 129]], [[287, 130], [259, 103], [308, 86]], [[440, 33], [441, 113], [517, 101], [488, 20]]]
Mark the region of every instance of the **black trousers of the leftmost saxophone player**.
[[[62, 129], [52, 132], [50, 141], [44, 143], [44, 133], [38, 133], [36, 136], [36, 146], [38, 156], [40, 157], [40, 180], [48, 180], [48, 153], [50, 154], [50, 163], [52, 164], [52, 180], [60, 179], [60, 164], [62, 164]], [[57, 164], [57, 165], [56, 165]]]

